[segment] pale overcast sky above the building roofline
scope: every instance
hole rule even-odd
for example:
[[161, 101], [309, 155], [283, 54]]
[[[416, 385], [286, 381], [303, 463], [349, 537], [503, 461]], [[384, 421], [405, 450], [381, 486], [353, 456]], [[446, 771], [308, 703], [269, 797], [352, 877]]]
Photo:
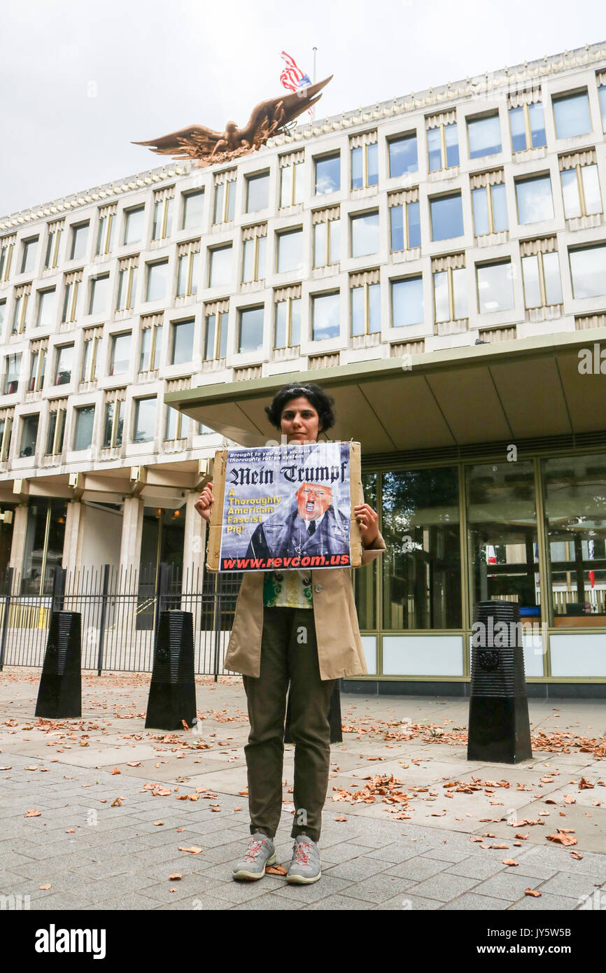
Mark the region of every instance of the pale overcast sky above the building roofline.
[[160, 165], [130, 145], [248, 121], [280, 52], [319, 117], [606, 41], [603, 0], [0, 0], [0, 215]]

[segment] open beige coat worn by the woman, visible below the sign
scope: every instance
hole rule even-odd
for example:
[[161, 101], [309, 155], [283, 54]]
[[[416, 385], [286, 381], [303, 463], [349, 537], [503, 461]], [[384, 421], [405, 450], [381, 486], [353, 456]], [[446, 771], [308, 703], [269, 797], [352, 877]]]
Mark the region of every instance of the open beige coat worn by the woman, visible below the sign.
[[[384, 550], [385, 542], [378, 534], [373, 544], [363, 549], [362, 564], [370, 563]], [[251, 571], [242, 578], [225, 657], [225, 668], [256, 678], [261, 671], [264, 578], [263, 571]], [[320, 678], [367, 675], [349, 571], [346, 568], [312, 571], [311, 593]]]

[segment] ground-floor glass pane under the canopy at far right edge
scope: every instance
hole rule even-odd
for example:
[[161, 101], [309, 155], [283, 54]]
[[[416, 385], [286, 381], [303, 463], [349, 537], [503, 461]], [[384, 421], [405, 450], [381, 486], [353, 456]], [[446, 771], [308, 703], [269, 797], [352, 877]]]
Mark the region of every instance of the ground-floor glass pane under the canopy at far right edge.
[[594, 623], [604, 621], [605, 461], [604, 453], [595, 452], [543, 461], [553, 624], [567, 629], [587, 626], [588, 615]]

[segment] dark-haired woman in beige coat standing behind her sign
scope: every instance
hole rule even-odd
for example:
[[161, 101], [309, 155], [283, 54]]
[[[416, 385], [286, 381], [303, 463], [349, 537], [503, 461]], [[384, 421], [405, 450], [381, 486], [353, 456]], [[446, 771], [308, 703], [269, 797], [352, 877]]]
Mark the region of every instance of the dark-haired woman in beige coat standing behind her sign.
[[[318, 385], [285, 385], [266, 408], [288, 445], [316, 443], [335, 424], [333, 400]], [[311, 485], [304, 485], [311, 486]], [[305, 529], [328, 515], [330, 497], [302, 493]], [[196, 510], [206, 522], [213, 502], [205, 486]], [[316, 509], [317, 508], [317, 509]], [[362, 537], [362, 563], [385, 550], [377, 515], [367, 503], [354, 508]], [[328, 523], [328, 522], [327, 522]], [[258, 544], [263, 538], [258, 538]], [[244, 574], [225, 667], [241, 672], [250, 735], [248, 770], [251, 838], [233, 878], [262, 879], [275, 861], [273, 837], [282, 811], [284, 717], [290, 682], [290, 732], [295, 741], [295, 817], [289, 883], [320, 878], [318, 841], [330, 767], [329, 709], [335, 680], [367, 673], [349, 573], [321, 570]]]

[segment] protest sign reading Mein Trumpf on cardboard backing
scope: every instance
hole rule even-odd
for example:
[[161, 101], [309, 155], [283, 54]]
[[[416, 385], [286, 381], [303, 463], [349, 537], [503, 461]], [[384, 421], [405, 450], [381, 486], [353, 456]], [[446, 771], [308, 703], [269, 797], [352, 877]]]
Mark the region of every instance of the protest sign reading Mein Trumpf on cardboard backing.
[[358, 567], [359, 443], [217, 450], [210, 571]]

